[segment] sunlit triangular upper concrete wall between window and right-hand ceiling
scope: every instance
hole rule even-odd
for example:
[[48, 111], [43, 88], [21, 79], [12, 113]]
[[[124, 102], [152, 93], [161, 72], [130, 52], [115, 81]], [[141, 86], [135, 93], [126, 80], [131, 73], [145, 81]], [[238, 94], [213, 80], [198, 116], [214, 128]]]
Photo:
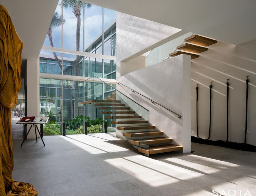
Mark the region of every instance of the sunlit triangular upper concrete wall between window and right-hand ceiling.
[[[120, 62], [127, 62], [185, 33], [181, 29], [152, 22], [121, 12], [116, 13], [116, 77]], [[119, 75], [118, 75], [119, 74]]]

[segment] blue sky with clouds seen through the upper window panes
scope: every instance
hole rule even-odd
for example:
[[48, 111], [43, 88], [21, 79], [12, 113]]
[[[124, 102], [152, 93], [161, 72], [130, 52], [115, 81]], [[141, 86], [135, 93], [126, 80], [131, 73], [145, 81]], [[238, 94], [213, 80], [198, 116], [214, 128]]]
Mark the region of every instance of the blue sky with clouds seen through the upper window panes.
[[[61, 0], [59, 1], [61, 3]], [[76, 16], [72, 12], [73, 8], [63, 11], [63, 18], [66, 20], [63, 25], [63, 47], [76, 50]], [[56, 11], [61, 15], [61, 5], [58, 4]], [[87, 47], [102, 32], [102, 7], [92, 5], [90, 9], [85, 7], [84, 14], [84, 47]], [[110, 25], [116, 19], [116, 11], [104, 8], [104, 27]], [[53, 29], [52, 41], [54, 47], [61, 48], [61, 25]], [[45, 46], [50, 46], [49, 38], [44, 40]], [[80, 51], [83, 50], [83, 8], [81, 9], [81, 29], [80, 29]], [[52, 55], [52, 52], [41, 51], [41, 54]], [[69, 57], [68, 54], [63, 56]], [[72, 57], [71, 57], [72, 58]]]

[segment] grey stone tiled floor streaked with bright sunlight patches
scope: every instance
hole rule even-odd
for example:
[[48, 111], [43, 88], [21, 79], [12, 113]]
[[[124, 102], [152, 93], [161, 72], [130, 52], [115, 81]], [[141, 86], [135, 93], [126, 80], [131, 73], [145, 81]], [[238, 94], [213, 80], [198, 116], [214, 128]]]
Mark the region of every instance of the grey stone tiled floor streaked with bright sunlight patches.
[[194, 153], [149, 158], [103, 133], [44, 142], [13, 141], [13, 179], [33, 184], [39, 196], [256, 195], [254, 152], [192, 143]]

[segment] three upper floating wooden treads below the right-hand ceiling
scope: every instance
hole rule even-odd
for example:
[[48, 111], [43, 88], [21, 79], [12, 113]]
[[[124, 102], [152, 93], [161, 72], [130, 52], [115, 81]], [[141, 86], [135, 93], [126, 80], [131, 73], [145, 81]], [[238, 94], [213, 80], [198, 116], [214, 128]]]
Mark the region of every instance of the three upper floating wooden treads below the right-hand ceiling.
[[180, 46], [177, 46], [177, 50], [169, 54], [169, 56], [175, 57], [180, 54], [188, 54], [191, 56], [191, 60], [196, 59], [200, 56], [199, 53], [202, 53], [208, 50], [207, 46], [217, 43], [216, 40], [206, 38], [200, 35], [191, 35], [190, 37], [185, 38], [184, 42], [188, 42], [188, 43], [183, 43]]

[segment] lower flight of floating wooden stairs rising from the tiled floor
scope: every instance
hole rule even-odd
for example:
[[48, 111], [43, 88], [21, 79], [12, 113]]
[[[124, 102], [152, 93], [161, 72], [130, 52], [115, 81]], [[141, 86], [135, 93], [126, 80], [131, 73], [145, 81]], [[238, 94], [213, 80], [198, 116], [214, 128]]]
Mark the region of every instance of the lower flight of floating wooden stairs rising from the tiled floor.
[[182, 146], [170, 144], [172, 138], [163, 137], [164, 132], [155, 131], [155, 126], [148, 125], [148, 120], [143, 120], [140, 115], [136, 115], [136, 111], [130, 111], [130, 107], [116, 100], [116, 91], [105, 100], [85, 101], [79, 104], [94, 104], [99, 106], [98, 110], [104, 110], [102, 114], [109, 114], [106, 118], [112, 119], [111, 123], [117, 125], [116, 129], [140, 153], [152, 155], [183, 150]]

